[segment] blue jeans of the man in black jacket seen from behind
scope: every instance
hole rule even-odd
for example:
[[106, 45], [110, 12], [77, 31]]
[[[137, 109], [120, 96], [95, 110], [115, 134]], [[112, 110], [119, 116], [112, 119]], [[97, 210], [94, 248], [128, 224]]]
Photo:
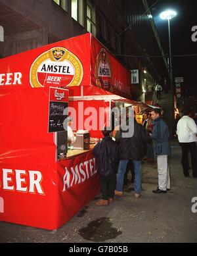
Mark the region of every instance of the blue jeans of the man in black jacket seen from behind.
[[[121, 160], [118, 166], [118, 173], [116, 174], [116, 190], [119, 192], [123, 192], [123, 180], [128, 162], [128, 160]], [[133, 161], [133, 168], [135, 173], [134, 190], [135, 193], [141, 193], [141, 161]]]

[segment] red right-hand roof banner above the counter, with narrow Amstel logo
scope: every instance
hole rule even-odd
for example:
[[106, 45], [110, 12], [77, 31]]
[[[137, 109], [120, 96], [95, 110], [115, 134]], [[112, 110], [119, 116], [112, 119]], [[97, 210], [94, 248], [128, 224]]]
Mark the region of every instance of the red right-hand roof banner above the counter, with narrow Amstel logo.
[[91, 84], [131, 99], [131, 74], [96, 38], [91, 39]]

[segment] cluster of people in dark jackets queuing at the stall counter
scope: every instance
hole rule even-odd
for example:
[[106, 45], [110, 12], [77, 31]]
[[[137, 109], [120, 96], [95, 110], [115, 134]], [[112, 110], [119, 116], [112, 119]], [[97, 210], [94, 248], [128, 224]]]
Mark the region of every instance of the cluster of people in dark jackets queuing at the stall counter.
[[[128, 113], [128, 112], [127, 112]], [[102, 131], [104, 138], [95, 145], [93, 155], [99, 159], [99, 174], [101, 180], [102, 199], [96, 205], [108, 205], [112, 203], [114, 195], [123, 196], [124, 176], [129, 162], [133, 164], [135, 198], [141, 197], [142, 172], [141, 161], [147, 155], [147, 146], [153, 143], [154, 153], [158, 162], [158, 188], [153, 193], [166, 193], [170, 190], [169, 166], [167, 157], [170, 154], [169, 130], [161, 117], [160, 109], [152, 110], [152, 128], [148, 131], [148, 118], [145, 122], [137, 123], [135, 114], [127, 116], [134, 118], [133, 136], [125, 138], [127, 130], [116, 130], [116, 141], [110, 138], [110, 132], [106, 128]], [[147, 126], [146, 126], [147, 124]], [[127, 124], [128, 125], [128, 124]], [[112, 132], [112, 131], [111, 131]], [[116, 180], [115, 178], [116, 177]]]

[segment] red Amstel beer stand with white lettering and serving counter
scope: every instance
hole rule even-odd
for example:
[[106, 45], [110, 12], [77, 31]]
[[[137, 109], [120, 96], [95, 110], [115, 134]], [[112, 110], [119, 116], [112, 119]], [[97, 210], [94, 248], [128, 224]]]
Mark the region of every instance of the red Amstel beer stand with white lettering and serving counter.
[[[129, 71], [91, 34], [1, 59], [1, 221], [56, 230], [100, 191], [91, 149], [56, 157], [57, 132], [49, 132], [50, 124], [58, 126], [49, 122], [51, 88], [76, 113], [81, 105], [110, 113], [114, 100], [131, 99]], [[77, 117], [76, 129], [83, 130]], [[93, 138], [102, 137], [99, 118], [97, 125], [89, 131]]]

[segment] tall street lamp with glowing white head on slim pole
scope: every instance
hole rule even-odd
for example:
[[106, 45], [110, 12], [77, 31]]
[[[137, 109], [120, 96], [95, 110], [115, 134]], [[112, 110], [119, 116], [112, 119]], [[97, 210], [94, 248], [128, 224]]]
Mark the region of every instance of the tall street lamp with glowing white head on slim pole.
[[162, 20], [168, 21], [168, 38], [169, 38], [169, 74], [170, 74], [170, 80], [171, 80], [171, 89], [173, 85], [173, 71], [172, 71], [172, 58], [171, 58], [171, 35], [170, 35], [170, 20], [174, 18], [177, 15], [177, 13], [173, 10], [167, 10], [160, 14], [160, 18]]

